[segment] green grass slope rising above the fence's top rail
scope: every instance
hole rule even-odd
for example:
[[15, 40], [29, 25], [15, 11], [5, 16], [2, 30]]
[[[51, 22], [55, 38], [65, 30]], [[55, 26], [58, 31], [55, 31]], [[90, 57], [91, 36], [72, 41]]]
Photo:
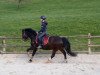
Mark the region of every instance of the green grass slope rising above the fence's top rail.
[[23, 28], [39, 31], [41, 15], [47, 16], [50, 35], [100, 35], [100, 0], [22, 0], [19, 9], [18, 0], [0, 0], [0, 36], [21, 37]]

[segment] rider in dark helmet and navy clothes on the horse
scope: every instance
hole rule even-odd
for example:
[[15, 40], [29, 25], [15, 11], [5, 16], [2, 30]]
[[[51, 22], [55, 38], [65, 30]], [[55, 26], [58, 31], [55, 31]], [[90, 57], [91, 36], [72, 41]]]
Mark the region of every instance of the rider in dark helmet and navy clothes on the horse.
[[48, 25], [45, 16], [41, 16], [40, 19], [41, 19], [41, 29], [38, 32], [38, 40], [39, 40], [39, 46], [38, 46], [38, 48], [41, 48], [42, 39], [43, 39], [43, 36], [46, 34], [47, 25]]

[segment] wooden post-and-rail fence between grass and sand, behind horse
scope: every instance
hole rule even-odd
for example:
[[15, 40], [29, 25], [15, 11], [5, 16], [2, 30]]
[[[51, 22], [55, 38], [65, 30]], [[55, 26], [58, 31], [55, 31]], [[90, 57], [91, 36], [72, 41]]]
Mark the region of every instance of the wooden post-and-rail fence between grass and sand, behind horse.
[[[91, 47], [100, 47], [100, 45], [93, 45], [91, 43], [92, 39], [96, 39], [96, 38], [100, 38], [100, 36], [93, 36], [90, 33], [88, 33], [88, 35], [76, 35], [76, 36], [61, 36], [61, 37], [67, 37], [67, 38], [86, 38], [88, 41], [86, 44], [81, 44], [82, 46], [87, 46], [88, 49], [85, 51], [76, 51], [79, 53], [93, 53], [91, 50]], [[0, 44], [0, 47], [2, 47], [2, 50], [0, 50], [0, 53], [14, 53], [14, 52], [6, 52], [6, 48], [7, 47], [29, 47], [29, 46], [25, 46], [25, 45], [8, 45], [6, 44], [6, 40], [16, 40], [16, 39], [21, 39], [20, 37], [4, 37], [4, 36], [0, 36], [0, 40], [2, 40], [2, 43]], [[18, 53], [18, 52], [16, 52]], [[25, 52], [23, 52], [25, 53]], [[95, 52], [95, 53], [100, 53], [100, 52]]]

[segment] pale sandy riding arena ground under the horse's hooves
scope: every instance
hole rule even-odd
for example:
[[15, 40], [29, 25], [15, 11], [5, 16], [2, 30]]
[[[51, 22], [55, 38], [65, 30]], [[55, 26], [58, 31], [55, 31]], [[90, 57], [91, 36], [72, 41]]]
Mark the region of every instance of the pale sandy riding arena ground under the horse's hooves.
[[46, 63], [50, 54], [36, 54], [28, 63], [26, 54], [0, 55], [0, 75], [100, 75], [100, 54], [67, 56], [56, 54], [52, 63]]

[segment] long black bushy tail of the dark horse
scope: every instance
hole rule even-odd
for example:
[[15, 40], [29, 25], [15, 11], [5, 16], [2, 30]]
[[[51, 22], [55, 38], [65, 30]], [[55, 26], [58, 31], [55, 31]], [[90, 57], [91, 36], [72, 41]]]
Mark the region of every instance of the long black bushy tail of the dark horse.
[[62, 37], [62, 41], [63, 41], [64, 48], [67, 51], [67, 54], [74, 57], [77, 56], [76, 53], [71, 51], [70, 42], [68, 41], [68, 39], [65, 37]]

